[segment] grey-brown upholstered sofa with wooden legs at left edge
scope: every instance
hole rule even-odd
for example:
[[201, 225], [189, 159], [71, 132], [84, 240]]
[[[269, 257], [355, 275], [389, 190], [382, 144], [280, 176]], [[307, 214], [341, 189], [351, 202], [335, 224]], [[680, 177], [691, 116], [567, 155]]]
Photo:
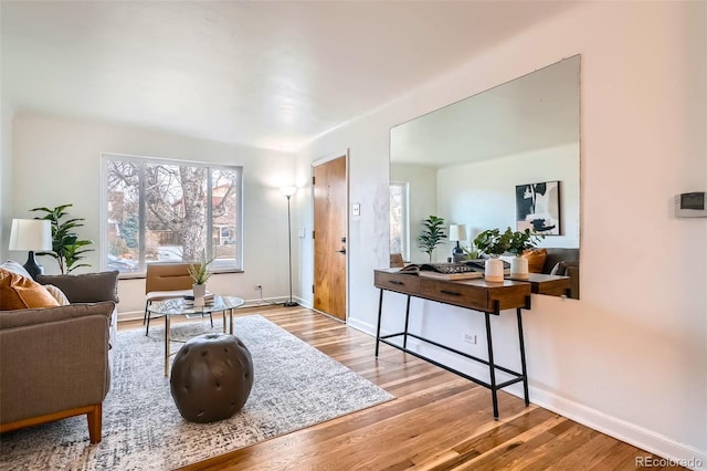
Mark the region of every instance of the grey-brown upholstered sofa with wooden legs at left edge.
[[0, 311], [0, 432], [86, 414], [97, 443], [110, 388], [117, 272], [38, 281], [62, 289], [72, 304]]

